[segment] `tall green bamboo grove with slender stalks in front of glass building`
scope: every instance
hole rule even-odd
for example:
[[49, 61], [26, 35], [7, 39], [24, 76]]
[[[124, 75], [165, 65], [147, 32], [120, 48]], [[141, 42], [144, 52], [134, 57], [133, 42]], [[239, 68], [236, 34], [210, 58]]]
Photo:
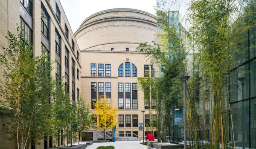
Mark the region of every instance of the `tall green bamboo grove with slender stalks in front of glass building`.
[[[255, 13], [255, 1], [192, 0], [186, 18], [189, 32], [181, 23], [175, 23], [175, 11], [165, 5], [157, 4], [156, 40], [137, 47], [137, 52], [159, 68], [155, 69], [158, 76], [138, 79], [144, 100], [150, 105], [149, 115], [152, 110], [157, 113], [157, 123], [150, 122], [150, 131], [157, 130], [158, 141], [179, 142], [173, 108], [183, 104], [179, 77], [189, 75], [187, 144], [196, 149], [235, 148], [235, 141], [230, 140], [230, 134], [234, 134], [229, 105], [230, 70], [246, 54], [247, 34], [254, 23], [249, 18]], [[154, 109], [152, 100], [156, 100]]]

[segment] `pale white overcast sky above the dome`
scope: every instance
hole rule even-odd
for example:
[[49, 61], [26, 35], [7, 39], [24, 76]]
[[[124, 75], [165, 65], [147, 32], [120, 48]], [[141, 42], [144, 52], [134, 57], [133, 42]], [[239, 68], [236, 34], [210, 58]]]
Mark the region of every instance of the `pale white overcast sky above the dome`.
[[[67, 19], [73, 32], [79, 28], [80, 24], [96, 12], [113, 8], [131, 8], [147, 11], [155, 15], [156, 0], [60, 0]], [[188, 3], [191, 0], [171, 0], [179, 6], [172, 6], [171, 9], [180, 11], [180, 20], [184, 17]], [[167, 5], [169, 5], [167, 3]], [[186, 26], [182, 21], [183, 26]]]

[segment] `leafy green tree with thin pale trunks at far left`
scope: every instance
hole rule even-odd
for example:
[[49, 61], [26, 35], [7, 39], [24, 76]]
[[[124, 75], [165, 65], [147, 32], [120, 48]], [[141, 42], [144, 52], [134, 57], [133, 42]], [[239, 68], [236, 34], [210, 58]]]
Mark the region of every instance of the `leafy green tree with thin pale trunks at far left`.
[[17, 31], [17, 36], [8, 32], [8, 48], [0, 54], [0, 109], [9, 115], [2, 120], [4, 134], [18, 149], [25, 149], [29, 141], [39, 143], [51, 130], [52, 68], [43, 55], [33, 57], [33, 46]]

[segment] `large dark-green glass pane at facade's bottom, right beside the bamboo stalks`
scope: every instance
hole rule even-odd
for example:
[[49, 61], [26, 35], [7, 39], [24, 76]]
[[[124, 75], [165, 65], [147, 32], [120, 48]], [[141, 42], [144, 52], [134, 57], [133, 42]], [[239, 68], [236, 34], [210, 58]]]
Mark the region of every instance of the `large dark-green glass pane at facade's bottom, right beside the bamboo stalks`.
[[[230, 146], [233, 146], [235, 141], [236, 148], [243, 149], [249, 147], [249, 101], [233, 103], [231, 105], [231, 113], [233, 120], [233, 130], [231, 125]], [[234, 136], [234, 138], [233, 138]]]

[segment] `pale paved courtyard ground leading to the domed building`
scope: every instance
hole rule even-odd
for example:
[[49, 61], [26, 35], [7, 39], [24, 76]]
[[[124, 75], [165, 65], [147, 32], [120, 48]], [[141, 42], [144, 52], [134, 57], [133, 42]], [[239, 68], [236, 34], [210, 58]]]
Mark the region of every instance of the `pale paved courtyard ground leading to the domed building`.
[[[86, 142], [80, 142], [80, 144], [85, 143]], [[96, 149], [99, 146], [115, 146], [115, 149], [147, 149], [147, 146], [140, 144], [140, 141], [116, 141], [108, 143], [93, 143], [93, 145], [87, 146], [86, 149]]]

